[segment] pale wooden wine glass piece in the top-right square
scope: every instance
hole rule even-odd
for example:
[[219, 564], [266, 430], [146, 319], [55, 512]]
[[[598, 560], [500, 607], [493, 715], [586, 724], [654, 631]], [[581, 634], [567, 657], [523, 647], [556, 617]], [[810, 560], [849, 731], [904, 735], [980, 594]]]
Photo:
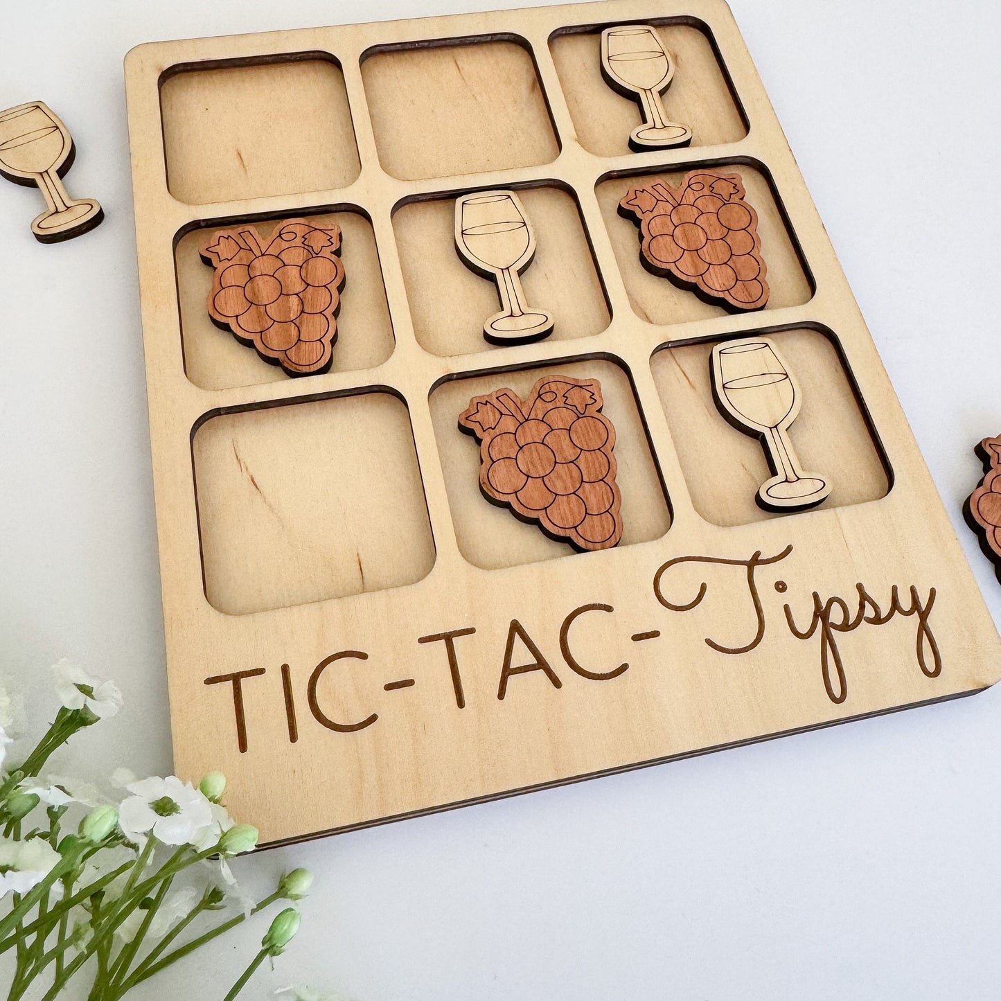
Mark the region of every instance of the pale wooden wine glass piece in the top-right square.
[[674, 79], [675, 61], [650, 25], [618, 25], [602, 32], [602, 75], [613, 90], [640, 102], [643, 123], [630, 133], [632, 149], [673, 149], [692, 141], [692, 130], [671, 121], [664, 110], [661, 94]]

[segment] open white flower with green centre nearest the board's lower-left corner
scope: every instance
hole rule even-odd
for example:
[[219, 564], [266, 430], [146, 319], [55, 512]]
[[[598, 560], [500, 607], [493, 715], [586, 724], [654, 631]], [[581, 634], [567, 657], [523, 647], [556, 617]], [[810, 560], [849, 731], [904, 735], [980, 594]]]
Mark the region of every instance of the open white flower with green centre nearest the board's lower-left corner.
[[118, 826], [130, 841], [144, 843], [152, 833], [165, 845], [197, 845], [212, 823], [208, 800], [174, 775], [130, 782], [126, 788], [133, 795], [118, 808]]

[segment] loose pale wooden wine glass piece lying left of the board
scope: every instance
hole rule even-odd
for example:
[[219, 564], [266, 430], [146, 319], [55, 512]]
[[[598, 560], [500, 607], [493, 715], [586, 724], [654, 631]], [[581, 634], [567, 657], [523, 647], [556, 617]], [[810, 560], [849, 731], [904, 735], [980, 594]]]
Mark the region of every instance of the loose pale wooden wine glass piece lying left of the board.
[[0, 174], [15, 184], [38, 185], [48, 208], [31, 231], [41, 243], [79, 236], [104, 218], [100, 202], [70, 198], [60, 180], [75, 155], [68, 129], [42, 101], [0, 111]]

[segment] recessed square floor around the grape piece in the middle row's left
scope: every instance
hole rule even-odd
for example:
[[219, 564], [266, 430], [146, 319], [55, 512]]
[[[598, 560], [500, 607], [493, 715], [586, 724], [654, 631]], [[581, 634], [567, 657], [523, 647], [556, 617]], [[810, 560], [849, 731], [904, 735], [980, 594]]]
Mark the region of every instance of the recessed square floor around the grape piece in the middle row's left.
[[[317, 226], [340, 227], [344, 286], [340, 291], [337, 339], [330, 370], [353, 371], [381, 364], [392, 353], [395, 342], [371, 223], [359, 211], [349, 209], [321, 214], [303, 212], [295, 218], [304, 218]], [[266, 219], [247, 224], [264, 237], [266, 245], [286, 221]], [[241, 344], [228, 329], [216, 326], [208, 314], [213, 268], [201, 259], [198, 248], [216, 229], [238, 226], [238, 221], [203, 225], [184, 233], [174, 249], [184, 371], [203, 389], [228, 389], [289, 378], [279, 365], [269, 364], [252, 347]]]

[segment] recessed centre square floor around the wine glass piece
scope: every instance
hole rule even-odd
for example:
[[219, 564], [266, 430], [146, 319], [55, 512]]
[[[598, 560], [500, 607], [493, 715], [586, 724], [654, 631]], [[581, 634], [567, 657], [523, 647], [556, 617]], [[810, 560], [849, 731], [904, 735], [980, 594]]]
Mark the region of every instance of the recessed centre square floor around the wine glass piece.
[[[547, 339], [600, 333], [609, 325], [609, 307], [577, 199], [555, 184], [521, 188], [517, 195], [536, 235], [536, 255], [522, 284], [529, 303], [555, 320]], [[455, 249], [455, 196], [402, 205], [392, 228], [420, 345], [439, 355], [496, 349], [483, 337], [483, 321], [497, 311], [497, 287], [470, 270]]]

